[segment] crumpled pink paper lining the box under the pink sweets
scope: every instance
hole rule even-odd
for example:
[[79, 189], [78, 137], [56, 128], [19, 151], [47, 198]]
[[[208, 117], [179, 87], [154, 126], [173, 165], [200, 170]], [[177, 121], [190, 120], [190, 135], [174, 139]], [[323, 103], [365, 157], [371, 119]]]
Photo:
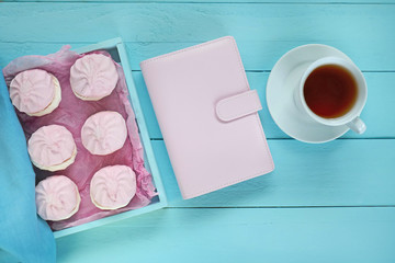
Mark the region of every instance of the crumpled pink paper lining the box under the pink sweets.
[[[93, 53], [100, 53], [111, 57], [110, 54], [103, 50]], [[34, 168], [36, 172], [36, 183], [47, 176], [61, 174], [71, 179], [77, 184], [80, 192], [81, 203], [79, 210], [69, 219], [48, 221], [53, 230], [61, 230], [122, 211], [144, 207], [150, 203], [150, 199], [155, 195], [157, 195], [153, 178], [144, 167], [144, 149], [139, 140], [135, 115], [128, 101], [128, 91], [122, 67], [115, 64], [120, 79], [111, 95], [95, 102], [82, 101], [72, 93], [69, 81], [70, 67], [82, 56], [84, 55], [78, 55], [77, 53], [71, 52], [70, 46], [64, 46], [59, 52], [47, 56], [25, 56], [16, 58], [3, 69], [8, 84], [10, 84], [11, 80], [19, 72], [34, 68], [50, 72], [60, 82], [61, 102], [50, 114], [42, 117], [32, 117], [15, 108], [25, 133], [26, 141], [40, 127], [49, 124], [58, 124], [71, 132], [77, 145], [76, 161], [66, 170], [48, 172]], [[122, 149], [108, 156], [93, 156], [82, 146], [80, 130], [89, 116], [101, 111], [119, 112], [126, 119], [128, 137]], [[93, 174], [101, 168], [115, 164], [124, 164], [133, 168], [137, 179], [136, 195], [131, 203], [123, 208], [116, 210], [101, 210], [91, 202], [89, 192], [90, 181]]]

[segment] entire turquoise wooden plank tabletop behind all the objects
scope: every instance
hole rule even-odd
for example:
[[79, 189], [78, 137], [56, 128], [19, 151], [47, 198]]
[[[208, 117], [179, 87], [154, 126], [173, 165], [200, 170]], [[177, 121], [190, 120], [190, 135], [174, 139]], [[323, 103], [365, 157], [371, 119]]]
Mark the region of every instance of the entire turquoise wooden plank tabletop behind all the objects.
[[[138, 62], [224, 35], [236, 38], [263, 102], [276, 168], [183, 201]], [[126, 44], [169, 208], [60, 238], [58, 262], [395, 262], [395, 1], [0, 3], [0, 67], [116, 36]], [[364, 135], [306, 145], [275, 126], [264, 103], [268, 76], [285, 52], [307, 43], [341, 49], [364, 72]]]

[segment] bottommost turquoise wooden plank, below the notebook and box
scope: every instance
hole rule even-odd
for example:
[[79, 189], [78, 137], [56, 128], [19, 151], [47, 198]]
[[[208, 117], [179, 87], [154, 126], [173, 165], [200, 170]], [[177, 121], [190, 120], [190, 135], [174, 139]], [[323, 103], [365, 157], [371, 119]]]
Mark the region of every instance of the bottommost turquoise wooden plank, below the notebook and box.
[[58, 262], [395, 261], [395, 208], [163, 209], [57, 240]]

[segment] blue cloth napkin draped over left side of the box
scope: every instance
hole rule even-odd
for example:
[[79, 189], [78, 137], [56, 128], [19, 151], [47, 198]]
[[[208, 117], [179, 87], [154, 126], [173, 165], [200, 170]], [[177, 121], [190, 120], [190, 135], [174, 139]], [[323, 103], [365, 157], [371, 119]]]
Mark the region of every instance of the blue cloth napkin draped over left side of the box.
[[0, 262], [56, 261], [54, 235], [36, 214], [35, 174], [0, 69]]

